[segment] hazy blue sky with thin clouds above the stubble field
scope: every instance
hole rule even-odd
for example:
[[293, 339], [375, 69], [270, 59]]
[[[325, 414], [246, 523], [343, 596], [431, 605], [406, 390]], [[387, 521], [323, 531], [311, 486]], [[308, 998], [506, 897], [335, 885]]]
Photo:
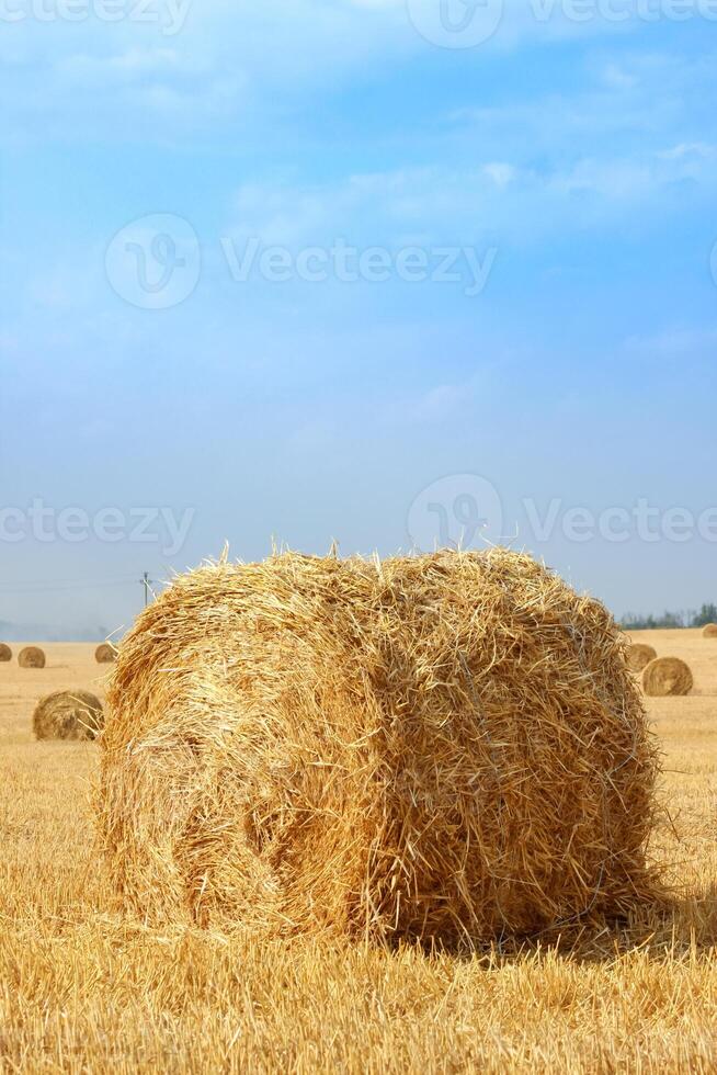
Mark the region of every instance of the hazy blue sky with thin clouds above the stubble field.
[[[471, 47], [440, 0], [72, 2], [0, 23], [0, 621], [114, 629], [143, 570], [272, 538], [509, 540], [617, 613], [717, 598], [707, 0], [448, 0], [496, 16]], [[288, 279], [237, 279], [252, 242]]]

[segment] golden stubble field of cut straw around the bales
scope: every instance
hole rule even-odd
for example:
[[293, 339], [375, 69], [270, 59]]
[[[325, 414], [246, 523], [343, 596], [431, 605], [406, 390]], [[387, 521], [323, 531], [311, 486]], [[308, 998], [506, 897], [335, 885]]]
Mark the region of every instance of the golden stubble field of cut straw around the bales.
[[691, 697], [649, 701], [671, 903], [473, 954], [124, 920], [92, 852], [96, 746], [31, 735], [41, 695], [102, 693], [106, 670], [89, 645], [47, 645], [43, 670], [0, 664], [0, 1068], [717, 1070], [717, 641], [639, 640], [695, 678]]

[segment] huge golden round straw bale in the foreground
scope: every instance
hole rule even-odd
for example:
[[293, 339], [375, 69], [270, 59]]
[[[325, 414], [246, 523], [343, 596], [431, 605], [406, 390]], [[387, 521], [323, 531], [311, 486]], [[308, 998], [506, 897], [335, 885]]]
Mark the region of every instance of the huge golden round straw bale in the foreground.
[[622, 635], [505, 550], [182, 576], [123, 640], [101, 746], [109, 879], [143, 920], [454, 942], [653, 892]]

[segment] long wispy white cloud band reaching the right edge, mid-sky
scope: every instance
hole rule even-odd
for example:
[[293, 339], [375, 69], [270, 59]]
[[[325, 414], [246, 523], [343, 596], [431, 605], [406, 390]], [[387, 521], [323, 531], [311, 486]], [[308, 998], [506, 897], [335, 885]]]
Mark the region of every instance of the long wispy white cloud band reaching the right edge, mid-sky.
[[531, 244], [577, 227], [602, 228], [639, 207], [667, 204], [685, 180], [706, 193], [717, 186], [717, 155], [582, 156], [551, 167], [487, 161], [474, 167], [397, 169], [332, 183], [251, 183], [231, 204], [226, 234], [265, 246], [423, 248], [502, 241]]

